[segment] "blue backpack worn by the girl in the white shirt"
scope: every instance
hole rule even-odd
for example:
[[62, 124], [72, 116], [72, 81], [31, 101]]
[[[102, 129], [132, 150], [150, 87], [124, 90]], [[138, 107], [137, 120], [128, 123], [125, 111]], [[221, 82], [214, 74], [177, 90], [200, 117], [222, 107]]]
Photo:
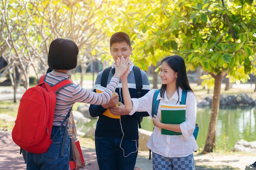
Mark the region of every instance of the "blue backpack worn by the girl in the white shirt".
[[[160, 89], [158, 89], [154, 93], [153, 102], [152, 102], [152, 117], [154, 117], [154, 115], [157, 114], [157, 108], [158, 108], [159, 102], [160, 102], [160, 100], [157, 100], [157, 96], [158, 96], [159, 92], [160, 92]], [[186, 104], [186, 93], [187, 93], [186, 91], [182, 90], [180, 104]], [[198, 126], [198, 124], [195, 124], [195, 130], [193, 132], [195, 140], [198, 137], [198, 131], [199, 131], [199, 126]]]

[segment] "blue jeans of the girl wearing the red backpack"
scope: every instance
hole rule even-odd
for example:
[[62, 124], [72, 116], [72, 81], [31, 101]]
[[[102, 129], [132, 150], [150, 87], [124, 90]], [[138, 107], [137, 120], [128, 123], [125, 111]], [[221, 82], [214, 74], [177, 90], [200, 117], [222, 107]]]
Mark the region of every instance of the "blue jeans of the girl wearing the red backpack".
[[[51, 138], [58, 130], [58, 127], [52, 127]], [[65, 140], [64, 157], [61, 156], [64, 133], [65, 127], [62, 126], [47, 152], [43, 154], [27, 152], [27, 170], [68, 170], [70, 160], [70, 140], [68, 134]]]

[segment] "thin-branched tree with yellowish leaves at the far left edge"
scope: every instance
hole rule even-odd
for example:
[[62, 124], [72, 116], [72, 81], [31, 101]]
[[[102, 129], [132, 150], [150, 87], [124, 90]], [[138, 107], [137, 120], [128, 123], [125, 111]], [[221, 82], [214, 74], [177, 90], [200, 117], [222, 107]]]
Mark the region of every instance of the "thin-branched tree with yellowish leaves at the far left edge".
[[[16, 102], [16, 89], [20, 86], [22, 73], [26, 73], [29, 65], [33, 63], [36, 52], [31, 49], [29, 41], [36, 39], [34, 31], [29, 28], [30, 20], [22, 3], [14, 1], [1, 2], [2, 36], [1, 44], [7, 48], [1, 51], [7, 62], [9, 77], [14, 90], [13, 100]], [[28, 35], [31, 37], [28, 38]], [[36, 42], [32, 42], [32, 44]], [[3, 68], [5, 69], [5, 68]], [[25, 79], [28, 80], [28, 75]], [[25, 84], [28, 88], [29, 84]]]

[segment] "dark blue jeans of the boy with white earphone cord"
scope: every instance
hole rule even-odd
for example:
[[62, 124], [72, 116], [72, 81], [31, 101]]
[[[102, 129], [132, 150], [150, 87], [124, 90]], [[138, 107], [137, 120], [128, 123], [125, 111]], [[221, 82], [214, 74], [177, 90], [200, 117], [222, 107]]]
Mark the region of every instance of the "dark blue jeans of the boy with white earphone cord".
[[134, 170], [138, 140], [95, 137], [95, 148], [99, 170]]

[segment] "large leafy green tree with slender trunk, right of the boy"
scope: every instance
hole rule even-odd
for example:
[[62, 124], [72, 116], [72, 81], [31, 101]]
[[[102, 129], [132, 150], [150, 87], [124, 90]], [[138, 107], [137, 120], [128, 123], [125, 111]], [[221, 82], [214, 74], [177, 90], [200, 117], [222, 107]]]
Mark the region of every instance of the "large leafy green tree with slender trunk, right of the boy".
[[[208, 73], [202, 76], [205, 78], [202, 86], [207, 84], [214, 90], [204, 152], [212, 152], [223, 77], [227, 75], [231, 82], [246, 82], [248, 74], [255, 71], [252, 61], [256, 51], [256, 2], [150, 2], [141, 0], [138, 9], [123, 11], [128, 20], [134, 18], [130, 22], [133, 23], [130, 29], [137, 33], [134, 42], [152, 63], [166, 55], [178, 54], [184, 57], [188, 70], [200, 66]], [[135, 7], [132, 3], [127, 8]]]

